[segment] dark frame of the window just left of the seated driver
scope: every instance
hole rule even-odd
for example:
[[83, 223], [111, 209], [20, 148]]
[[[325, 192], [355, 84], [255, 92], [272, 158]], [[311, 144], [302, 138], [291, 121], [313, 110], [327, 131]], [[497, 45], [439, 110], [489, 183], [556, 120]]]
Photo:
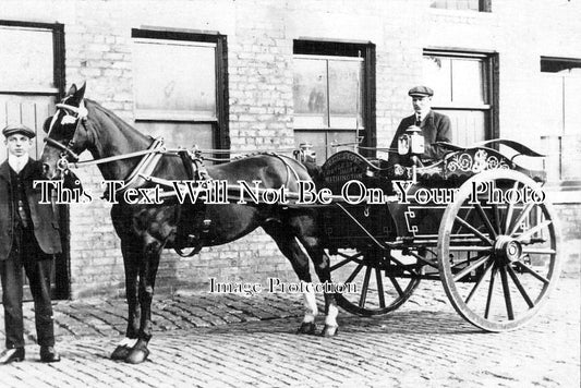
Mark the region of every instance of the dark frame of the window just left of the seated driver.
[[[372, 41], [344, 41], [324, 38], [301, 37], [293, 40], [293, 58], [301, 57], [353, 57], [363, 59], [363, 84], [362, 86], [362, 133], [363, 140], [360, 146], [365, 148], [375, 148], [377, 145], [376, 131], [376, 53], [375, 44]], [[330, 97], [329, 97], [330, 98]], [[296, 129], [295, 129], [296, 130]], [[301, 130], [301, 129], [299, 129]], [[320, 128], [319, 130], [339, 131], [340, 129]], [[347, 129], [351, 130], [351, 129]], [[346, 131], [347, 131], [346, 130]], [[374, 157], [375, 149], [361, 149], [361, 154], [367, 157]]]

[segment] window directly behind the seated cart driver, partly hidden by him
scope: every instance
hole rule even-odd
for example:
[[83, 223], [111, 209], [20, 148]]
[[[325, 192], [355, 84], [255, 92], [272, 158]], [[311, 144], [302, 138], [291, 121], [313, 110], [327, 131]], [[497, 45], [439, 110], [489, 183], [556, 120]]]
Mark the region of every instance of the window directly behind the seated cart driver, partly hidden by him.
[[434, 88], [433, 109], [447, 114], [452, 142], [469, 146], [497, 137], [493, 104], [494, 56], [424, 51], [425, 82]]

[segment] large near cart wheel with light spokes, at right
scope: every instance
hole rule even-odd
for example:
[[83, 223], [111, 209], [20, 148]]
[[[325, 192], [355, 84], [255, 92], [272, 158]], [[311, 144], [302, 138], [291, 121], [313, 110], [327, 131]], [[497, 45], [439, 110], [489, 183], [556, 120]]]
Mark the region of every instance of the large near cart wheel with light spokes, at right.
[[[485, 184], [485, 193], [473, 194]], [[462, 184], [444, 213], [438, 235], [444, 289], [456, 311], [484, 330], [524, 325], [559, 277], [555, 213], [535, 194], [524, 198], [532, 191], [542, 195], [540, 189], [520, 172], [488, 170]]]

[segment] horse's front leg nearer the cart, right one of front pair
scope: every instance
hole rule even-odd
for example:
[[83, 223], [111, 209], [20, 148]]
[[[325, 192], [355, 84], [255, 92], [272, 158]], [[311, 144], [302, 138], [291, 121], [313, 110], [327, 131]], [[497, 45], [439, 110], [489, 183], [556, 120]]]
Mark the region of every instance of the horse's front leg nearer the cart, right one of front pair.
[[144, 362], [149, 355], [147, 344], [152, 339], [152, 301], [154, 299], [154, 287], [161, 254], [161, 244], [156, 241], [147, 241], [144, 244], [144, 259], [140, 266], [140, 289], [138, 299], [141, 305], [141, 320], [137, 332], [137, 342], [130, 350], [125, 362], [138, 364]]

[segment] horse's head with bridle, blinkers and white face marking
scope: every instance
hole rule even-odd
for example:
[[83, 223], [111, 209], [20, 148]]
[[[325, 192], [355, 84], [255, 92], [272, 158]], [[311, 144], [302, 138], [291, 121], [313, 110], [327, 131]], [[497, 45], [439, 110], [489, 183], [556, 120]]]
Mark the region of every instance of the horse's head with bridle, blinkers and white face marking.
[[57, 179], [68, 170], [69, 162], [78, 160], [78, 155], [87, 148], [87, 109], [83, 101], [85, 84], [80, 88], [71, 86], [55, 116], [45, 121], [45, 148], [40, 160], [45, 178]]

